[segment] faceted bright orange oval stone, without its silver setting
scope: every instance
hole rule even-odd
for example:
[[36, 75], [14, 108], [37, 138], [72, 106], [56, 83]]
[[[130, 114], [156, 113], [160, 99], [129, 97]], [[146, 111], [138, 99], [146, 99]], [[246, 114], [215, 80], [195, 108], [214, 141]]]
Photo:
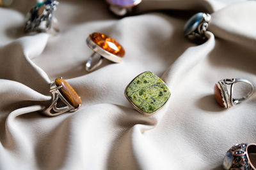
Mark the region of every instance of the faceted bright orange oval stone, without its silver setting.
[[90, 34], [90, 39], [107, 52], [113, 53], [118, 57], [124, 56], [124, 48], [115, 39], [99, 32], [93, 32]]

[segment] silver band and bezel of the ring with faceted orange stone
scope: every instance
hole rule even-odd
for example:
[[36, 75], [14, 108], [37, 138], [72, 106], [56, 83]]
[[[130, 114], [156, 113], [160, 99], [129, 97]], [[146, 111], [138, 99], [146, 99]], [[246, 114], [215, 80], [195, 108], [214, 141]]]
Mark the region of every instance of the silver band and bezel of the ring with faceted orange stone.
[[[93, 54], [91, 55], [90, 59], [88, 59], [86, 62], [86, 66], [85, 66], [86, 71], [95, 70], [97, 67], [100, 66], [100, 64], [102, 64], [102, 60], [104, 58], [111, 60], [112, 62], [117, 62], [117, 63], [119, 63], [123, 60], [123, 57], [118, 57], [117, 55], [115, 55], [113, 53], [109, 53], [108, 51], [104, 50], [99, 45], [94, 43], [92, 41], [92, 39], [90, 38], [90, 36], [88, 36], [88, 38], [86, 39], [86, 44], [94, 51]], [[99, 57], [97, 64], [93, 65], [92, 61], [96, 57], [96, 55], [100, 55], [101, 57]]]

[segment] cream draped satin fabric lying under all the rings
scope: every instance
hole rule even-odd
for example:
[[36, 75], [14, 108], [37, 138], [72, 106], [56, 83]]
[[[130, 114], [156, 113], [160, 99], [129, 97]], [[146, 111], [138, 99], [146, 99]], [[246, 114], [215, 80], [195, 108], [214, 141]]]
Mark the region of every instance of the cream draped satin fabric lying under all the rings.
[[[222, 169], [236, 143], [256, 142], [256, 96], [225, 110], [213, 96], [223, 78], [256, 82], [256, 1], [144, 0], [136, 15], [116, 18], [104, 1], [60, 1], [58, 36], [24, 34], [36, 1], [0, 8], [0, 169]], [[191, 15], [207, 11], [209, 40], [184, 38]], [[86, 72], [85, 39], [102, 32], [122, 44], [120, 64]], [[143, 71], [168, 84], [172, 96], [152, 117], [125, 99]], [[62, 76], [83, 105], [44, 117], [49, 82]]]

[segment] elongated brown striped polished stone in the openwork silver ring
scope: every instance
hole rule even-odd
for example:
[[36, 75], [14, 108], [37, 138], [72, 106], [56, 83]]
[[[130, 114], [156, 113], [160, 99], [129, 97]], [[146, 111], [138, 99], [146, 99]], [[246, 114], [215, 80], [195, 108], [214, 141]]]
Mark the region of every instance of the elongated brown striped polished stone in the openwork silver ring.
[[59, 89], [61, 95], [70, 103], [74, 108], [78, 108], [79, 104], [82, 104], [82, 100], [76, 93], [76, 91], [67, 83], [67, 81], [62, 78], [56, 78], [55, 84], [57, 87], [62, 87]]

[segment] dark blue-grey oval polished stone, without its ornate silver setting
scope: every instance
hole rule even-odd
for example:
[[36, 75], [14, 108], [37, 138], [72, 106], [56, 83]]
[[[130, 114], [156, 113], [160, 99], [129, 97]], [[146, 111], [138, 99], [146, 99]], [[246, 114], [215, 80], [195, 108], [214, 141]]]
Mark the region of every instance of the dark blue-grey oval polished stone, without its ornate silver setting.
[[185, 35], [188, 35], [191, 32], [195, 31], [198, 24], [202, 21], [203, 15], [204, 13], [200, 12], [200, 13], [196, 13], [191, 18], [189, 18], [188, 22], [186, 22], [183, 29]]

